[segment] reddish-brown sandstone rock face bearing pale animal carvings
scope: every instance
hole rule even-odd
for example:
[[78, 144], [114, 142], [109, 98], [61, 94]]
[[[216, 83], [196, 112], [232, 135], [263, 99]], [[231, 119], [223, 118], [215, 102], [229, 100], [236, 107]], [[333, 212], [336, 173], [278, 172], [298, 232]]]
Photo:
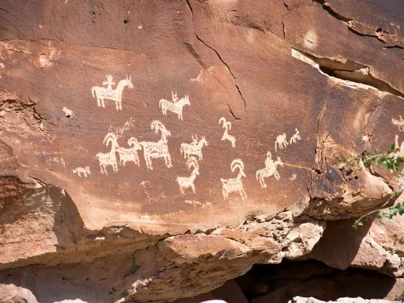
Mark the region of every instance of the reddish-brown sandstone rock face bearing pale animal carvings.
[[[329, 222], [395, 201], [389, 171], [340, 163], [404, 141], [401, 13], [1, 1], [1, 298], [169, 302], [319, 259]], [[344, 266], [401, 276], [380, 224]]]

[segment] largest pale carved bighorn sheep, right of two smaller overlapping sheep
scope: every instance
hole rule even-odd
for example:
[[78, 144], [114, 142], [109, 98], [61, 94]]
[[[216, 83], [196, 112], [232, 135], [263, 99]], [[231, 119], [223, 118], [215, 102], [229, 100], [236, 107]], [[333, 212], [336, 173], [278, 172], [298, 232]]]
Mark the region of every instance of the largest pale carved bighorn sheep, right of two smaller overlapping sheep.
[[167, 137], [171, 136], [164, 124], [160, 121], [154, 120], [151, 122], [151, 129], [155, 129], [155, 133], [161, 132], [161, 139], [158, 142], [140, 142], [139, 144], [143, 147], [144, 160], [146, 161], [146, 166], [148, 169], [153, 169], [151, 166], [151, 159], [154, 158], [164, 158], [166, 161], [166, 166], [168, 168], [171, 165], [171, 156], [169, 153], [169, 146], [167, 145]]

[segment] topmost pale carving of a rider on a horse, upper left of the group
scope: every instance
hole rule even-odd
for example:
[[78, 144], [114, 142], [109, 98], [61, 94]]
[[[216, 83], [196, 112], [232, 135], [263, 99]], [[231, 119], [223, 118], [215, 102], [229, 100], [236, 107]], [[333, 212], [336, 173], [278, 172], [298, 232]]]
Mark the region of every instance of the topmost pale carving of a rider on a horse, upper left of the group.
[[126, 86], [130, 89], [133, 88], [131, 76], [120, 80], [115, 90], [112, 89], [112, 85], [115, 85], [112, 75], [107, 75], [107, 81], [104, 81], [102, 85], [107, 85], [107, 87], [93, 86], [91, 88], [92, 97], [97, 97], [97, 105], [105, 107], [104, 100], [107, 99], [115, 101], [116, 109], [122, 110], [122, 91]]

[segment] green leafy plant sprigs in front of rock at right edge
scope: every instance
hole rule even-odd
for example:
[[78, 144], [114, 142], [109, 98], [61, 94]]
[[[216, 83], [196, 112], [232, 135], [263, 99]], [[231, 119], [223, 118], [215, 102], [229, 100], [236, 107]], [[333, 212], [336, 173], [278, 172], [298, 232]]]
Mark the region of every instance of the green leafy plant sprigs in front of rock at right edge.
[[[351, 156], [348, 159], [343, 159], [341, 163], [341, 169], [345, 169], [346, 166], [356, 166], [358, 167], [358, 169], [362, 169], [363, 166], [369, 168], [372, 164], [381, 164], [383, 165], [384, 169], [391, 169], [395, 171], [396, 174], [403, 176], [403, 173], [400, 172], [398, 169], [401, 164], [404, 164], [404, 156], [400, 152], [400, 149], [395, 146], [395, 144], [392, 144], [388, 151], [385, 151], [383, 154], [378, 153], [378, 151], [376, 151], [375, 149], [370, 153], [368, 151], [363, 151], [363, 153], [359, 156]], [[398, 196], [398, 193], [393, 192], [390, 196], [393, 198], [395, 196]], [[388, 203], [389, 201], [390, 200], [386, 201], [386, 203]], [[372, 213], [378, 213], [376, 219], [392, 219], [394, 216], [397, 215], [402, 216], [404, 214], [404, 202], [396, 203], [395, 206], [388, 208], [386, 211], [383, 211], [383, 209], [384, 208], [376, 209], [375, 211], [365, 213], [365, 215], [361, 216], [361, 218], [358, 218], [358, 220], [353, 223], [353, 228], [357, 229], [358, 226], [362, 226], [363, 220], [367, 221], [368, 216]], [[395, 242], [397, 241], [399, 241], [400, 244], [403, 244], [404, 237], [399, 239], [397, 235], [395, 235]]]

